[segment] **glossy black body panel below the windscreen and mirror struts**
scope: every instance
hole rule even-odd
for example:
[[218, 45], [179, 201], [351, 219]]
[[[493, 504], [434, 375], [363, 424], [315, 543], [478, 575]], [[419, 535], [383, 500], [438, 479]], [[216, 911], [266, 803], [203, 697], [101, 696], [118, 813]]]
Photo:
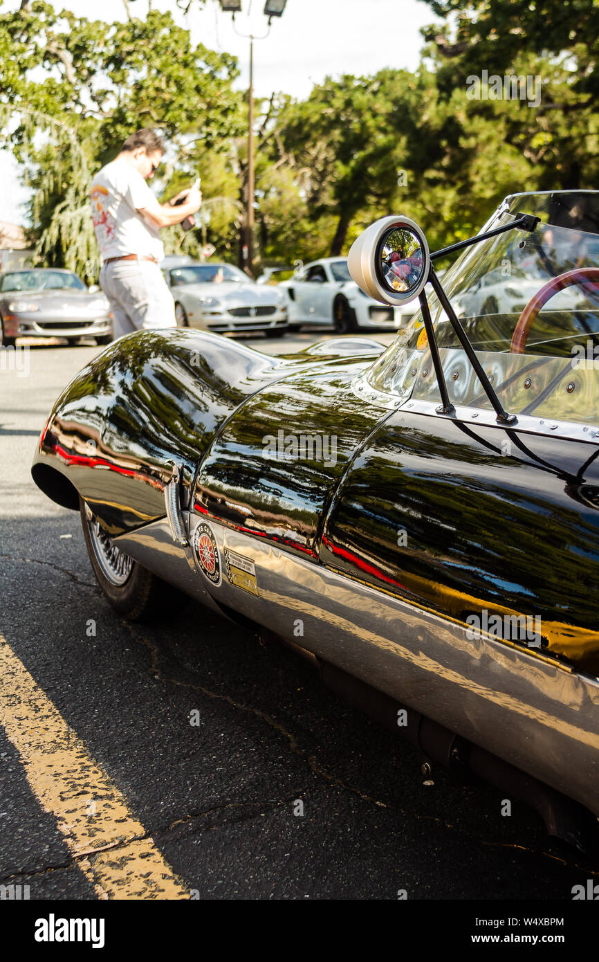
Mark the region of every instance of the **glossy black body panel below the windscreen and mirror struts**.
[[337, 491], [320, 560], [446, 617], [539, 617], [599, 670], [596, 445], [397, 412]]

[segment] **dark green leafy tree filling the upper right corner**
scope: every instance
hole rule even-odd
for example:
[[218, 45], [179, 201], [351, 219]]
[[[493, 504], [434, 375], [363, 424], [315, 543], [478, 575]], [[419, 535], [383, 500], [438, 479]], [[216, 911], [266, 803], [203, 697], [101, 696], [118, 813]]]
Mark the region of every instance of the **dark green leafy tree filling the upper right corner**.
[[[445, 23], [423, 36], [449, 98], [468, 77], [538, 78], [540, 102], [512, 100], [506, 142], [537, 165], [540, 189], [594, 187], [599, 174], [598, 13], [595, 0], [426, 0]], [[492, 103], [469, 113], [490, 118]]]

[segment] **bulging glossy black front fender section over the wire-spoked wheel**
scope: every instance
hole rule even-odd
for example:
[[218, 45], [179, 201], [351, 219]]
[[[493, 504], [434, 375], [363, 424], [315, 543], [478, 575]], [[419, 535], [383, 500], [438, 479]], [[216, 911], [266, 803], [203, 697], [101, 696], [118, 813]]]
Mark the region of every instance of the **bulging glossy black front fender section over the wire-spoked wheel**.
[[[355, 349], [370, 350], [371, 360], [382, 348], [362, 342]], [[272, 357], [208, 332], [123, 338], [62, 392], [40, 439], [34, 480], [66, 507], [77, 508], [81, 494], [112, 536], [160, 519], [169, 461], [184, 466], [188, 489], [243, 401], [329, 360], [313, 349]]]

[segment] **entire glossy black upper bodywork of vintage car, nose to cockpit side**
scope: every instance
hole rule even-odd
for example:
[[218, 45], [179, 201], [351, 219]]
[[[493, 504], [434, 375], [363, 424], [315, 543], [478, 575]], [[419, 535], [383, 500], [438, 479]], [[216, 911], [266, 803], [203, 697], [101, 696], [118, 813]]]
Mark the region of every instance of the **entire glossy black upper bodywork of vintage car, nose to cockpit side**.
[[[334, 353], [132, 335], [63, 392], [34, 478], [117, 535], [164, 517], [183, 463], [196, 514], [460, 622], [538, 616], [548, 654], [598, 671], [597, 445], [389, 412], [352, 389], [376, 349]], [[279, 432], [328, 439], [328, 460], [265, 457]]]

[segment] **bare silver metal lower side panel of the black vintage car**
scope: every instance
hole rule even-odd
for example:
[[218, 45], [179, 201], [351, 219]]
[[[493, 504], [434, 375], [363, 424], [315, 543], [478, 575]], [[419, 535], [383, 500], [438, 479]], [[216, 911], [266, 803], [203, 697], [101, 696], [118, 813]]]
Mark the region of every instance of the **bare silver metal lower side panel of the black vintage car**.
[[[458, 623], [211, 519], [184, 517], [191, 542], [199, 524], [212, 529], [218, 586], [172, 544], [164, 520], [118, 544], [203, 603], [213, 597], [266, 625], [599, 816], [597, 678], [492, 638], [470, 641]], [[258, 596], [232, 584], [225, 548], [255, 565]]]

